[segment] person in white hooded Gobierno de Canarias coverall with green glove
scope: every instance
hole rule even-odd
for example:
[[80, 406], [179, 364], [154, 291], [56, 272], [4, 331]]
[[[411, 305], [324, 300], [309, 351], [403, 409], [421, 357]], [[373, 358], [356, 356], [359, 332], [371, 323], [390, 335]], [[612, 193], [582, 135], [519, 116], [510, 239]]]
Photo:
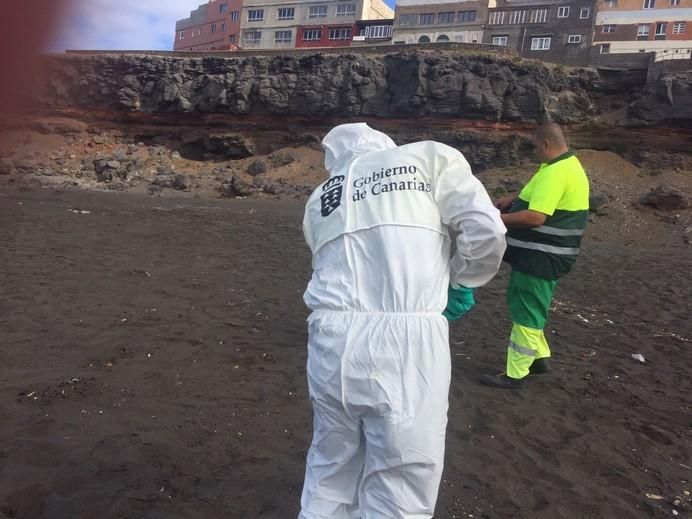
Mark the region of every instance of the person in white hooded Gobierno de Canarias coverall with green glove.
[[447, 319], [497, 273], [505, 227], [449, 146], [397, 147], [364, 123], [337, 126], [322, 145], [330, 177], [303, 220], [314, 436], [299, 518], [432, 517], [451, 376]]

